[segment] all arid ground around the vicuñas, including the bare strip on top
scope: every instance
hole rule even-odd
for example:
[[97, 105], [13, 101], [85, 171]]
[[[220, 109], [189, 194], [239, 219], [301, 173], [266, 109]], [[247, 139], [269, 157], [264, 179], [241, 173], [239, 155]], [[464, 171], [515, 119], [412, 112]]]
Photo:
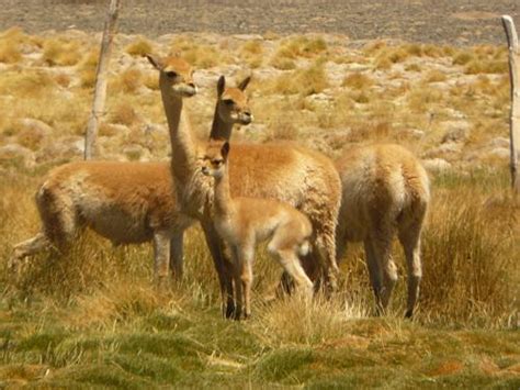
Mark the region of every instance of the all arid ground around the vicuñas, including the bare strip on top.
[[382, 317], [372, 315], [359, 244], [341, 261], [339, 291], [307, 307], [273, 300], [281, 268], [260, 248], [253, 316], [242, 322], [221, 316], [196, 226], [184, 278], [168, 291], [152, 286], [151, 245], [114, 247], [89, 231], [70, 253], [10, 271], [13, 245], [39, 229], [38, 183], [82, 159], [105, 2], [2, 1], [0, 388], [519, 388], [520, 208], [509, 188], [508, 53], [497, 18], [518, 22], [519, 5], [144, 4], [124, 2], [98, 157], [171, 157], [145, 53], [178, 53], [195, 68], [200, 93], [185, 105], [201, 140], [218, 77], [234, 85], [252, 75], [255, 121], [231, 142], [290, 141], [331, 159], [368, 143], [404, 145], [432, 192], [417, 314], [403, 319], [397, 245], [399, 281]]

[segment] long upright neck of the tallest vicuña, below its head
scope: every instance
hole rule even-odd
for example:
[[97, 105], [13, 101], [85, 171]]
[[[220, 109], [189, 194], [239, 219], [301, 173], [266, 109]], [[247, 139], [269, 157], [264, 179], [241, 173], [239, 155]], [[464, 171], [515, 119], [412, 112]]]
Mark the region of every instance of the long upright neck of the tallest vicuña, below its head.
[[196, 163], [196, 146], [193, 142], [190, 122], [182, 110], [182, 98], [172, 97], [161, 90], [162, 104], [170, 132], [171, 167], [180, 182], [188, 182]]

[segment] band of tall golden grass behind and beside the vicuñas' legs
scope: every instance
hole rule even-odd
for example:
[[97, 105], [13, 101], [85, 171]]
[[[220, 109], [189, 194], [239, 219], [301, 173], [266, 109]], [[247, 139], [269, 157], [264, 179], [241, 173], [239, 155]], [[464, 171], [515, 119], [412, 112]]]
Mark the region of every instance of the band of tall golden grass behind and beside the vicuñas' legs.
[[[417, 314], [420, 322], [485, 327], [516, 326], [520, 292], [517, 267], [520, 260], [520, 208], [507, 196], [504, 177], [497, 180], [483, 172], [476, 172], [475, 177], [475, 181], [456, 176], [438, 177], [434, 180], [433, 202], [423, 233], [423, 281]], [[38, 216], [31, 197], [35, 182], [34, 179], [20, 181], [11, 178], [1, 189], [1, 283], [23, 297], [43, 293], [55, 297], [58, 301], [93, 293], [98, 298], [92, 299], [98, 303], [84, 299], [81, 302], [89, 308], [99, 305], [101, 312], [103, 307], [125, 307], [126, 303], [117, 301], [132, 300], [128, 293], [137, 293], [139, 297], [144, 294], [145, 301], [136, 304], [157, 307], [159, 301], [146, 298], [146, 291], [151, 288], [150, 245], [114, 248], [99, 236], [83, 234], [70, 253], [35, 256], [26, 261], [19, 277], [7, 272], [5, 264], [13, 243], [31, 236], [38, 226]], [[186, 297], [195, 297], [196, 300], [202, 299], [217, 305], [215, 271], [197, 229], [189, 232], [185, 253], [186, 276], [177, 288], [177, 297], [184, 297], [184, 300]], [[398, 249], [395, 253], [402, 278], [391, 312], [399, 316], [405, 307], [406, 275], [403, 254]], [[259, 278], [256, 289], [259, 293], [255, 296], [268, 297], [273, 292], [281, 269], [263, 252], [258, 256], [257, 263]], [[342, 288], [338, 297], [330, 302], [319, 303], [318, 300], [313, 303], [307, 312], [307, 315], [312, 315], [307, 322], [310, 327], [291, 328], [286, 325], [281, 331], [284, 332], [283, 337], [303, 337], [298, 339], [310, 343], [312, 339], [321, 337], [323, 332], [332, 332], [337, 321], [341, 323], [344, 319], [366, 316], [372, 312], [368, 275], [358, 245], [351, 246], [341, 268]], [[112, 290], [114, 286], [132, 286], [132, 289], [121, 293]], [[258, 298], [259, 315], [263, 319], [261, 326], [267, 328], [281, 326], [279, 322], [285, 322], [292, 310], [295, 316], [299, 315], [298, 307], [302, 305], [295, 301], [282, 301], [275, 305], [262, 302]], [[111, 313], [106, 315], [113, 319], [113, 315], [120, 315], [117, 310], [108, 310]], [[325, 312], [330, 316], [325, 315]], [[105, 321], [101, 314], [97, 315], [101, 319], [92, 321]], [[112, 321], [110, 319], [106, 321]]]

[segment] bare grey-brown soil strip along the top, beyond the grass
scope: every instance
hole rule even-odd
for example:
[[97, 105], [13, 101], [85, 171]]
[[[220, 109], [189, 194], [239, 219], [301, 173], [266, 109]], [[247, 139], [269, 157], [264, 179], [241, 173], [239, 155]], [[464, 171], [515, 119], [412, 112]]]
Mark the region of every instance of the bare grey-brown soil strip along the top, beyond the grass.
[[[100, 31], [109, 0], [0, 0], [0, 30]], [[124, 0], [120, 31], [150, 37], [222, 34], [339, 33], [352, 40], [398, 38], [467, 45], [505, 43], [501, 14], [520, 25], [517, 0]]]

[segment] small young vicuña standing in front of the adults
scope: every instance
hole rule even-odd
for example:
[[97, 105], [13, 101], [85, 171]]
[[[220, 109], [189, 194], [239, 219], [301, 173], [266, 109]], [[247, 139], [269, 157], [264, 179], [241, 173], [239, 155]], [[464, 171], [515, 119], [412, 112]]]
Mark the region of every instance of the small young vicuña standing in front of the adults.
[[211, 141], [202, 172], [214, 178], [214, 200], [211, 215], [221, 237], [229, 245], [233, 258], [233, 279], [236, 290], [235, 319], [242, 307], [245, 316], [251, 315], [251, 285], [255, 247], [269, 239], [268, 252], [302, 288], [307, 299], [313, 294], [313, 282], [303, 270], [298, 255], [306, 255], [313, 226], [307, 216], [287, 203], [262, 198], [231, 198], [228, 175], [229, 143]]

